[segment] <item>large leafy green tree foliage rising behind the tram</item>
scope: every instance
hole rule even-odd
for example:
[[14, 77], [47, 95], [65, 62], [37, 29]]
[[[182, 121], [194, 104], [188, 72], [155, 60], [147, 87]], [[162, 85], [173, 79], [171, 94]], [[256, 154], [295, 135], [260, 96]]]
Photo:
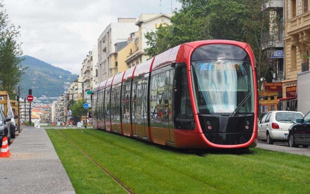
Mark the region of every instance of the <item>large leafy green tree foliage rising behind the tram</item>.
[[[145, 34], [145, 49], [150, 57], [182, 43], [208, 40], [233, 39], [249, 43], [258, 64], [259, 77], [265, 77], [272, 59], [264, 49], [263, 36], [269, 31], [282, 31], [276, 15], [265, 11], [270, 0], [179, 0], [180, 10], [174, 11], [171, 25], [159, 26], [156, 32]], [[270, 22], [274, 21], [274, 22]], [[269, 36], [274, 49], [277, 36]]]

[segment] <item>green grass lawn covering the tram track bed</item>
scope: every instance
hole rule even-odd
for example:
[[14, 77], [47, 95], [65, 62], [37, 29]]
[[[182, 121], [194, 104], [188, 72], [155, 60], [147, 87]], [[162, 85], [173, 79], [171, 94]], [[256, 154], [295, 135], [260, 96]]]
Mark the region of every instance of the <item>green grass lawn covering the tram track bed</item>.
[[[310, 193], [307, 156], [253, 148], [201, 157], [95, 129], [60, 131], [136, 194]], [[56, 130], [47, 133], [78, 194], [125, 192]]]

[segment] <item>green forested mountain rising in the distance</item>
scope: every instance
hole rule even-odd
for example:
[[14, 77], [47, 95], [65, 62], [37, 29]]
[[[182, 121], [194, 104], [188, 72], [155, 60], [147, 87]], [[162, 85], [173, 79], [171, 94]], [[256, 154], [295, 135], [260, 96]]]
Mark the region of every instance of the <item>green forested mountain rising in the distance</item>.
[[55, 67], [32, 56], [21, 56], [25, 58], [21, 62], [22, 67], [28, 67], [20, 81], [20, 97], [28, 95], [28, 89], [32, 89], [34, 97], [58, 97], [64, 93], [65, 83], [71, 83], [77, 78], [70, 71]]

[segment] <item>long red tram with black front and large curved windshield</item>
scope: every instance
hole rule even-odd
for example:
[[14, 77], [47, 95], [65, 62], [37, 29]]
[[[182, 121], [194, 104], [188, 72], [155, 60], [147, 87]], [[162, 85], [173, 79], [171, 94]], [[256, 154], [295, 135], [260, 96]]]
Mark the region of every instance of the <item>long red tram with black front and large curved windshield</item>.
[[255, 147], [255, 70], [246, 43], [185, 43], [97, 84], [93, 124], [177, 148]]

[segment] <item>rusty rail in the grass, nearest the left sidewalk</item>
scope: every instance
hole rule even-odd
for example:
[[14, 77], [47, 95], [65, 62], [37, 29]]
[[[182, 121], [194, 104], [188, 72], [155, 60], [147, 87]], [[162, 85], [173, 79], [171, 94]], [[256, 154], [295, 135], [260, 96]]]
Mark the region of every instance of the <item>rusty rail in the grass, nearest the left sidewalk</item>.
[[128, 188], [123, 182], [121, 182], [118, 178], [116, 178], [112, 173], [110, 173], [107, 169], [101, 166], [95, 159], [93, 159], [89, 154], [83, 151], [79, 146], [77, 146], [73, 141], [71, 141], [64, 133], [55, 129], [59, 134], [61, 134], [64, 138], [66, 138], [74, 147], [76, 147], [80, 152], [82, 152], [89, 160], [95, 163], [102, 171], [104, 171], [108, 176], [110, 176], [116, 183], [118, 183], [121, 187], [123, 187], [129, 194], [135, 194], [130, 188]]

